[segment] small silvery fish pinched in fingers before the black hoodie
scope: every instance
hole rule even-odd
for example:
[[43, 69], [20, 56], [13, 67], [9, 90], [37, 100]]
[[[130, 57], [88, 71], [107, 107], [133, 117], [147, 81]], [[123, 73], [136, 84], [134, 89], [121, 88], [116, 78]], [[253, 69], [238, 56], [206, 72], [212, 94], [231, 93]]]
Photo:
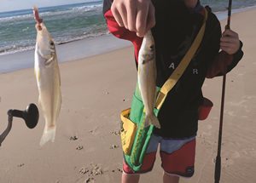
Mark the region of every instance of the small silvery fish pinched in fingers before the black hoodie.
[[154, 37], [149, 30], [143, 37], [143, 43], [138, 53], [138, 88], [144, 104], [144, 128], [153, 124], [160, 129], [160, 122], [154, 115], [156, 98], [156, 61]]

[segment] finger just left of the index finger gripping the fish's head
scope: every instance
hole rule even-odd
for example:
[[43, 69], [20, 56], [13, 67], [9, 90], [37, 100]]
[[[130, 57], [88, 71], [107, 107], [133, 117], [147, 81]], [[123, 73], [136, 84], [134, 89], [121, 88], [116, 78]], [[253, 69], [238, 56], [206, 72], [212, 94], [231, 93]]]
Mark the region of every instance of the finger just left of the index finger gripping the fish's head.
[[130, 31], [136, 31], [136, 7], [134, 1], [128, 1], [127, 27]]

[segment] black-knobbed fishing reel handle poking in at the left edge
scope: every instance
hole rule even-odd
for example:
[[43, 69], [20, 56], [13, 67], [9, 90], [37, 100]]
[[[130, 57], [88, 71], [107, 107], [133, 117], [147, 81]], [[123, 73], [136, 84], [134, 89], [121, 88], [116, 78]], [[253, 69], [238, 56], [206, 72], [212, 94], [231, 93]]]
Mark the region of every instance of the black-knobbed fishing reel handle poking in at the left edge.
[[29, 129], [35, 128], [38, 124], [39, 112], [38, 107], [35, 104], [27, 106], [25, 111], [10, 109], [7, 114], [9, 116], [9, 123], [7, 128], [3, 131], [3, 134], [0, 135], [0, 146], [12, 128], [13, 117], [23, 118], [27, 128]]

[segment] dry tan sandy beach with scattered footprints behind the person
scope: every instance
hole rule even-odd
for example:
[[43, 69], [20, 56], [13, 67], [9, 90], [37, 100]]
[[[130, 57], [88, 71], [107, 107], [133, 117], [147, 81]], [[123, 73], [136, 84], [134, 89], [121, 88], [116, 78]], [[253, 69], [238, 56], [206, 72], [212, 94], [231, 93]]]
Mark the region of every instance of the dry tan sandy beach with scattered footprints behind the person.
[[[239, 32], [244, 43], [245, 55], [227, 76], [221, 156], [224, 183], [256, 182], [256, 21], [253, 17], [256, 9], [248, 9], [233, 14], [231, 20], [231, 28]], [[225, 22], [222, 20], [222, 27]], [[73, 44], [77, 45], [76, 49], [81, 48], [78, 43]], [[44, 130], [42, 114], [35, 129], [27, 129], [21, 119], [14, 118], [12, 130], [0, 146], [0, 183], [120, 182], [119, 112], [131, 105], [137, 71], [131, 47], [113, 49], [84, 59], [71, 54], [73, 61], [60, 63], [62, 106], [55, 143], [39, 146]], [[60, 58], [67, 54], [64, 52], [60, 49]], [[5, 58], [8, 57], [11, 55]], [[32, 66], [33, 58], [30, 59], [30, 65], [22, 68]], [[2, 133], [7, 125], [6, 112], [12, 108], [23, 110], [29, 103], [38, 105], [38, 89], [32, 68], [0, 74], [0, 86]], [[195, 175], [182, 179], [181, 183], [214, 182], [221, 87], [222, 77], [207, 79], [204, 84], [204, 95], [213, 101], [214, 107], [207, 120], [199, 123]], [[153, 171], [143, 174], [140, 182], [161, 182], [161, 175], [157, 156]]]

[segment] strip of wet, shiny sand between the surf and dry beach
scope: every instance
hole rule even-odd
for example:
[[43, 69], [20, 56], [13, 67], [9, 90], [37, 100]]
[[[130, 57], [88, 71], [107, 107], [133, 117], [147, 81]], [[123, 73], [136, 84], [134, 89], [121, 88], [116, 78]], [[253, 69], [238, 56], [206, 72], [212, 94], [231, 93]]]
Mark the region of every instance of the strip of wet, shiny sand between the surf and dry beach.
[[[253, 9], [256, 9], [256, 6], [245, 7], [241, 9], [232, 9], [232, 15], [250, 11]], [[214, 12], [214, 14], [217, 15], [218, 20], [220, 21], [227, 18], [227, 11]], [[59, 63], [62, 63], [67, 61], [85, 59], [90, 56], [108, 53], [117, 49], [124, 49], [131, 46], [131, 43], [129, 41], [113, 37], [112, 34], [107, 34], [98, 37], [71, 40], [65, 43], [55, 44], [55, 46]], [[26, 68], [32, 68], [33, 63], [34, 49], [29, 49], [26, 51], [16, 52], [12, 54], [3, 54], [0, 55], [0, 74], [11, 71], [19, 71]]]

